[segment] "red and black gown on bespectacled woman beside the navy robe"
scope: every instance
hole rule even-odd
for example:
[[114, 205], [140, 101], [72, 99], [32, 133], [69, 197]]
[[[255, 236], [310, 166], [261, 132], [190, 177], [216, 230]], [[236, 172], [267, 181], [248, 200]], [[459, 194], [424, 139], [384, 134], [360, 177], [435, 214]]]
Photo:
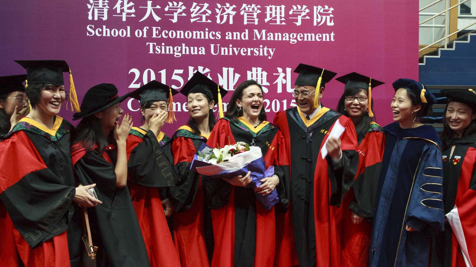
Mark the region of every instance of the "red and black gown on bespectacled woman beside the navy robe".
[[[342, 267], [368, 266], [371, 220], [378, 178], [382, 170], [384, 145], [385, 134], [382, 127], [375, 122], [370, 123], [367, 134], [358, 145], [356, 180], [342, 200]], [[365, 219], [359, 224], [352, 223], [352, 211]]]

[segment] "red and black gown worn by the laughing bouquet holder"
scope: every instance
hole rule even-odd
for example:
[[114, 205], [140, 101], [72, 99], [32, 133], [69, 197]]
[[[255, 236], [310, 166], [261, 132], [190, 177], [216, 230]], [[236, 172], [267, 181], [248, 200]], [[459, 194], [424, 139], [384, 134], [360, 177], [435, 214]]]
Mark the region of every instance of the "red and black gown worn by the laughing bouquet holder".
[[275, 258], [275, 210], [285, 210], [288, 204], [285, 184], [288, 181], [288, 159], [284, 139], [278, 128], [262, 122], [256, 128], [244, 117], [235, 121], [218, 120], [207, 145], [223, 147], [242, 141], [261, 148], [266, 167], [275, 166], [279, 177], [279, 202], [270, 210], [264, 208], [252, 188], [231, 186], [213, 178], [206, 181], [210, 199], [215, 248], [211, 266], [272, 266]]

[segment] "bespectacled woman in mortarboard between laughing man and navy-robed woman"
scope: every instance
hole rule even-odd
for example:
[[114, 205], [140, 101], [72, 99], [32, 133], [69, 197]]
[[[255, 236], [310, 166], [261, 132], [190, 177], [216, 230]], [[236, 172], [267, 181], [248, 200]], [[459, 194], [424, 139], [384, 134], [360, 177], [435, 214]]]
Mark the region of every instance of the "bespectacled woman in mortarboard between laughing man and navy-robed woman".
[[356, 128], [358, 167], [352, 189], [342, 200], [341, 265], [365, 267], [372, 230], [375, 191], [382, 170], [385, 135], [374, 122], [372, 112], [374, 88], [383, 85], [376, 79], [352, 72], [336, 78], [345, 84], [337, 112], [349, 117]]

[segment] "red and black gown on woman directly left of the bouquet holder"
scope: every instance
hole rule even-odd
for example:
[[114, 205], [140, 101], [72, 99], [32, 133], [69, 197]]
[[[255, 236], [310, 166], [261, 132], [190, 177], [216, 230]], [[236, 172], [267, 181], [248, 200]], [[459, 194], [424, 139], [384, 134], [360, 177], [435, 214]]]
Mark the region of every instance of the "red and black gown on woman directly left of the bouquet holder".
[[194, 154], [207, 139], [208, 136], [195, 134], [188, 125], [184, 125], [178, 128], [172, 141], [174, 168], [180, 182], [170, 191], [176, 209], [175, 248], [182, 267], [210, 266], [208, 251], [212, 251], [212, 244], [206, 242], [206, 238], [211, 239], [211, 225], [208, 225], [208, 231], [204, 225], [204, 217], [208, 219], [209, 210], [204, 209], [201, 175], [190, 170]]

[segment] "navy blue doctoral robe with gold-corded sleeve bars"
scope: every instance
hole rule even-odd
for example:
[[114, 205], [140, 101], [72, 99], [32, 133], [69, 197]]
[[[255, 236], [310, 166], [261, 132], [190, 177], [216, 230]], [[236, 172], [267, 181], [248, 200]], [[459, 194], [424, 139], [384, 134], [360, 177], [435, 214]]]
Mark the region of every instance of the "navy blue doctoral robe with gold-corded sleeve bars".
[[441, 143], [429, 125], [402, 129], [396, 122], [384, 129], [370, 266], [428, 266], [430, 238], [445, 221]]

